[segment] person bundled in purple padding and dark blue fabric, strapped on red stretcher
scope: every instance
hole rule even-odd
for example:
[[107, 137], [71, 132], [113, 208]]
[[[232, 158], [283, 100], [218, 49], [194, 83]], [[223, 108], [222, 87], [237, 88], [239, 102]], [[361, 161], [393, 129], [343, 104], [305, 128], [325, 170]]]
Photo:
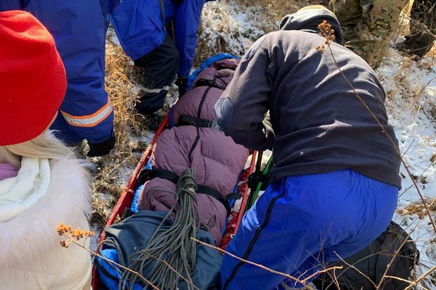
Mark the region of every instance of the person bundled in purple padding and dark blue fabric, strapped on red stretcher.
[[[106, 249], [117, 250], [118, 263], [142, 272], [160, 289], [194, 289], [192, 284], [198, 289], [220, 287], [222, 255], [191, 237], [196, 234], [207, 244], [219, 245], [230, 211], [226, 197], [236, 187], [248, 159], [249, 151], [224, 136], [214, 121], [214, 104], [238, 62], [223, 58], [196, 75], [191, 89], [172, 107], [171, 127], [162, 131], [153, 145], [152, 170], [139, 176], [143, 184], [139, 184], [138, 213], [105, 230], [117, 245]], [[156, 263], [158, 258], [173, 269]], [[145, 270], [139, 270], [141, 266]], [[120, 282], [112, 281], [113, 285], [141, 284], [141, 279], [128, 272], [119, 273]]]

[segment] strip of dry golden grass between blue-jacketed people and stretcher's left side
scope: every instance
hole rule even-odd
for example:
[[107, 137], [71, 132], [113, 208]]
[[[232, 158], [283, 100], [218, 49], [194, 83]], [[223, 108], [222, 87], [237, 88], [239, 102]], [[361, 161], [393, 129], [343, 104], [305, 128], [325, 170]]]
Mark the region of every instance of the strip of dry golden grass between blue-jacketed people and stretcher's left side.
[[140, 89], [134, 84], [137, 76], [133, 62], [120, 46], [109, 39], [106, 44], [105, 68], [106, 91], [115, 111], [114, 132], [117, 144], [108, 156], [90, 159], [96, 165], [92, 221], [99, 226], [105, 224], [110, 210], [124, 189], [124, 183], [120, 183], [120, 180], [129, 178], [146, 146], [139, 141], [143, 128], [135, 121], [134, 104], [139, 97]]

